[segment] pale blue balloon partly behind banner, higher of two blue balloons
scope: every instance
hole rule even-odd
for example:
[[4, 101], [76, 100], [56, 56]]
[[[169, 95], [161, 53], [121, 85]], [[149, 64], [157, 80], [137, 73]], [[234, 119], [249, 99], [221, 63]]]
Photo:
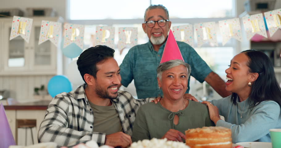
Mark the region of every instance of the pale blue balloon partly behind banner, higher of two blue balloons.
[[66, 57], [76, 58], [82, 53], [83, 50], [75, 43], [72, 43], [65, 48], [62, 48], [61, 51]]

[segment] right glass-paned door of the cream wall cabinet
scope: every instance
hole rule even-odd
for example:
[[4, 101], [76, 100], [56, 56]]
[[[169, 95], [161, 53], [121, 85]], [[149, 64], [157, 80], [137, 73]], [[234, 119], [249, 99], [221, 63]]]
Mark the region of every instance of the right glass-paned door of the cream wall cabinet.
[[41, 21], [35, 20], [33, 22], [33, 33], [31, 44], [32, 58], [30, 59], [30, 66], [32, 71], [46, 71], [56, 73], [57, 67], [57, 49], [56, 46], [49, 40], [38, 45], [41, 29]]

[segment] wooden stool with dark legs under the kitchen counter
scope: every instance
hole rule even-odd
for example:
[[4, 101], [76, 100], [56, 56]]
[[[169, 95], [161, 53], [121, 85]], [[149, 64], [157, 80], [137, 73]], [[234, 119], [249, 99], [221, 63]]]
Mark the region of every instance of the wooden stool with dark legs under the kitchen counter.
[[34, 144], [32, 128], [36, 127], [36, 120], [33, 120], [33, 119], [18, 119], [17, 120], [17, 127], [25, 129], [25, 145], [27, 145], [27, 129], [30, 129], [32, 144]]

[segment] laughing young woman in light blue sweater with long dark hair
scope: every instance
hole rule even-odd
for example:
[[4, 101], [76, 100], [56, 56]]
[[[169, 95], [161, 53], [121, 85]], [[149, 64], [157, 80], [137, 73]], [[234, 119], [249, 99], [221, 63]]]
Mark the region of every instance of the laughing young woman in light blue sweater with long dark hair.
[[232, 95], [202, 102], [208, 105], [211, 120], [231, 129], [233, 143], [270, 142], [269, 129], [281, 128], [281, 90], [268, 56], [256, 50], [242, 51], [225, 72], [226, 90]]

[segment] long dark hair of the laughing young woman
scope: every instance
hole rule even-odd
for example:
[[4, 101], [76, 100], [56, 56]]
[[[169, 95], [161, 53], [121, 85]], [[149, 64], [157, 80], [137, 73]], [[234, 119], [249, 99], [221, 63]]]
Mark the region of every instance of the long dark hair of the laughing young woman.
[[[250, 100], [250, 108], [254, 108], [262, 101], [272, 100], [279, 104], [281, 107], [281, 89], [276, 80], [273, 65], [268, 56], [262, 51], [245, 50], [244, 53], [248, 56], [249, 72], [258, 73], [257, 80], [252, 83], [252, 91], [248, 99]], [[236, 105], [238, 95], [232, 93], [231, 100]]]

